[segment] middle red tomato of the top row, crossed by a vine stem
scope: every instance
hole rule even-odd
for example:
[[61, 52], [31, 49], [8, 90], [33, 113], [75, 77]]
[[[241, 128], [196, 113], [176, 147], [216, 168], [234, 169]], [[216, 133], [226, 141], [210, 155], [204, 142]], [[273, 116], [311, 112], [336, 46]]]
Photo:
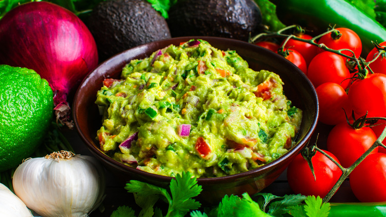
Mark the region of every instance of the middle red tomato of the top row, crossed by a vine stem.
[[[301, 39], [312, 39], [312, 36], [307, 34], [298, 35], [296, 37]], [[284, 48], [289, 48], [291, 50], [298, 51], [304, 57], [304, 60], [306, 61], [307, 65], [309, 65], [311, 59], [314, 58], [316, 54], [318, 54], [318, 47], [294, 39], [288, 40]]]

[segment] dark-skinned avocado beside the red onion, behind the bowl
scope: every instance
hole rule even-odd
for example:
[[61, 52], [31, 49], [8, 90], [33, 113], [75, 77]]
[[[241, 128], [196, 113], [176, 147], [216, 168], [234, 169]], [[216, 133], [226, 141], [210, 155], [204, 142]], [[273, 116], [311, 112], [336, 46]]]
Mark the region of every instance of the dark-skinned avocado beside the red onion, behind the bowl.
[[144, 0], [102, 1], [93, 9], [88, 28], [97, 43], [100, 61], [171, 37], [165, 18]]

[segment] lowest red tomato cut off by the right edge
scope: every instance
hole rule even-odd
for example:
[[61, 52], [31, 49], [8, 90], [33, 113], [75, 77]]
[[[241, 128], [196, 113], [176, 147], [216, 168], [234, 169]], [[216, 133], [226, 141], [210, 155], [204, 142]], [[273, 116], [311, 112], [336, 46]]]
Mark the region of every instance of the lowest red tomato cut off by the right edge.
[[386, 201], [386, 154], [367, 156], [349, 176], [355, 197], [361, 202]]

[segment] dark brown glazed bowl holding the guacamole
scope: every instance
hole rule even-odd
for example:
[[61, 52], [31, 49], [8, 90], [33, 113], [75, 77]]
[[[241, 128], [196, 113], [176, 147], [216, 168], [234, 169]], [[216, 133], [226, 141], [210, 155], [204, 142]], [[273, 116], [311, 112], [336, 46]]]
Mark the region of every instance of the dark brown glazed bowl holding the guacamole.
[[285, 155], [259, 168], [216, 178], [198, 178], [203, 191], [201, 203], [218, 204], [228, 194], [241, 195], [244, 192], [254, 194], [271, 184], [288, 166], [296, 154], [306, 145], [313, 133], [319, 113], [318, 99], [311, 82], [290, 61], [264, 48], [246, 42], [216, 37], [181, 37], [172, 38], [132, 48], [117, 54], [101, 63], [81, 83], [73, 103], [73, 118], [79, 135], [89, 150], [104, 166], [116, 175], [117, 179], [127, 182], [131, 179], [146, 181], [158, 186], [169, 185], [171, 177], [151, 174], [114, 161], [99, 149], [97, 130], [101, 126], [96, 101], [97, 91], [105, 78], [119, 78], [122, 68], [131, 60], [148, 57], [152, 52], [170, 44], [179, 45], [192, 38], [209, 42], [221, 50], [235, 50], [254, 70], [265, 69], [280, 75], [284, 82], [284, 92], [292, 104], [303, 110], [303, 119], [297, 136], [297, 144]]

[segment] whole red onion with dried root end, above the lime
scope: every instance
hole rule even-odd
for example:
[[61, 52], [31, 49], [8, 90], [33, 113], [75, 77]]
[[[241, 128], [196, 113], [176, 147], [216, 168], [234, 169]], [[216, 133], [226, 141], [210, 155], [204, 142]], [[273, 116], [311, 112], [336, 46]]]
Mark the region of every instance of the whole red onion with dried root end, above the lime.
[[54, 92], [56, 121], [72, 127], [67, 96], [98, 64], [97, 46], [71, 11], [45, 1], [15, 7], [0, 20], [0, 64], [26, 67]]

